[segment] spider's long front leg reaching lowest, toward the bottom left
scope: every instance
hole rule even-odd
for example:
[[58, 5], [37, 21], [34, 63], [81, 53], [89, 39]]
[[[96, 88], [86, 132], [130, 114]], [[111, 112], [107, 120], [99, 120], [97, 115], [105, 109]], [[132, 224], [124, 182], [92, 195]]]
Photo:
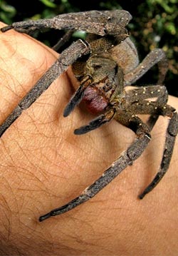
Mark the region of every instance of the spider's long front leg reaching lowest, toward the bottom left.
[[61, 206], [60, 208], [56, 208], [51, 210], [50, 213], [43, 215], [39, 218], [39, 221], [43, 221], [48, 219], [49, 217], [61, 215], [63, 213], [72, 210], [73, 208], [77, 207], [78, 205], [84, 203], [90, 198], [93, 198], [97, 193], [100, 192], [103, 188], [105, 188], [108, 183], [110, 183], [117, 175], [119, 175], [122, 170], [124, 170], [128, 165], [132, 163], [132, 161], [136, 160], [140, 157], [142, 152], [147, 147], [147, 144], [150, 142], [150, 131], [149, 128], [138, 118], [137, 116], [133, 116], [132, 113], [127, 113], [125, 111], [120, 111], [117, 113], [117, 121], [122, 121], [122, 124], [126, 125], [131, 128], [137, 134], [137, 138], [135, 141], [130, 145], [127, 150], [125, 150], [120, 157], [115, 160], [114, 163], [105, 170], [103, 175], [95, 180], [95, 182], [90, 185], [88, 188], [85, 188], [83, 193], [79, 195], [77, 198], [71, 200], [66, 205]]

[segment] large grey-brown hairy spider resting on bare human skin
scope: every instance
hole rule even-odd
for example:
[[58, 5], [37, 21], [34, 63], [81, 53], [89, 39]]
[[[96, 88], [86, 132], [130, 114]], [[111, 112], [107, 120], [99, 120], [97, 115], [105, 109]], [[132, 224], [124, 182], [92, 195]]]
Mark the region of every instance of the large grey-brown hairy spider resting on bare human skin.
[[[167, 58], [164, 51], [155, 48], [139, 63], [137, 49], [132, 43], [125, 26], [132, 16], [124, 10], [86, 11], [61, 14], [53, 19], [37, 21], [21, 21], [1, 29], [2, 32], [16, 29], [26, 32], [33, 29], [52, 28], [69, 29], [63, 39], [55, 46], [58, 48], [68, 40], [75, 30], [87, 32], [85, 41], [78, 39], [66, 48], [58, 60], [46, 71], [36, 85], [19, 102], [10, 116], [0, 126], [0, 136], [19, 118], [23, 110], [30, 107], [43, 91], [72, 65], [73, 73], [80, 82], [66, 108], [63, 116], [68, 116], [80, 101], [85, 101], [88, 110], [98, 115], [88, 125], [74, 130], [76, 135], [88, 133], [103, 126], [113, 118], [123, 126], [135, 132], [137, 138], [125, 150], [103, 175], [85, 188], [77, 198], [66, 205], [51, 210], [39, 217], [39, 221], [68, 212], [81, 203], [93, 198], [110, 183], [127, 165], [140, 157], [150, 142], [150, 131], [159, 116], [169, 117], [164, 153], [159, 172], [152, 183], [139, 196], [144, 198], [155, 188], [169, 168], [174, 149], [174, 141], [178, 132], [178, 116], [172, 106], [167, 105], [167, 90], [162, 85], [167, 73]], [[135, 87], [127, 90], [127, 86], [135, 83], [152, 66], [158, 65], [159, 78], [156, 85]], [[138, 114], [148, 114], [147, 123]]]

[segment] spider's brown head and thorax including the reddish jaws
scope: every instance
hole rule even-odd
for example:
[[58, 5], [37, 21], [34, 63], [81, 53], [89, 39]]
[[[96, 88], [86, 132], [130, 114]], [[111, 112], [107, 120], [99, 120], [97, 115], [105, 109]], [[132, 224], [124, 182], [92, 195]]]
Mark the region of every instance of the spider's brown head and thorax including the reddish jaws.
[[96, 43], [103, 46], [100, 48], [104, 52], [96, 52], [91, 48], [87, 61], [79, 60], [73, 64], [73, 73], [82, 88], [77, 102], [83, 98], [88, 111], [92, 113], [105, 111], [115, 96], [121, 95], [124, 78], [122, 68], [117, 65], [109, 49], [105, 47], [108, 44], [112, 47], [112, 39], [105, 39], [102, 42], [100, 39], [95, 39], [95, 45]]

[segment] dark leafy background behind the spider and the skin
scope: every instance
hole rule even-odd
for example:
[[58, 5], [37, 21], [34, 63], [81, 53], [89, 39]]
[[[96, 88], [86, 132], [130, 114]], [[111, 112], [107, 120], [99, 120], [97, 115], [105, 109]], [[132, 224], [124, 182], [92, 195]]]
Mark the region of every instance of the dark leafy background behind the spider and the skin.
[[[169, 60], [169, 71], [164, 81], [169, 94], [178, 96], [178, 0], [96, 1], [82, 3], [75, 0], [1, 1], [0, 19], [7, 24], [25, 19], [43, 19], [71, 11], [125, 9], [132, 14], [128, 31], [137, 46], [140, 60], [155, 47], [163, 48]], [[53, 46], [61, 36], [60, 31], [37, 34], [38, 39]], [[140, 79], [140, 84], [157, 81], [157, 67]]]

